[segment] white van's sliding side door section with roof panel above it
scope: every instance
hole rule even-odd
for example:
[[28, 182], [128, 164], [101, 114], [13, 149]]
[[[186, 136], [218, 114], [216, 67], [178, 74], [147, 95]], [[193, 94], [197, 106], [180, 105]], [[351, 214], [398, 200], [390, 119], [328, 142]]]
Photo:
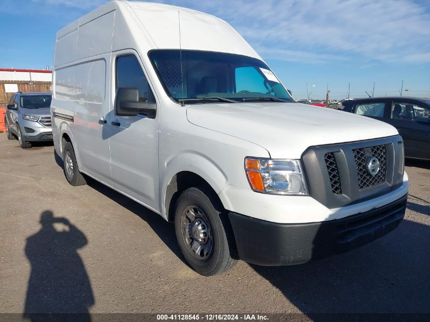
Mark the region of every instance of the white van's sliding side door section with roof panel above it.
[[[106, 124], [110, 110], [110, 48], [114, 11], [78, 29], [76, 72], [76, 110], [74, 131], [80, 154], [80, 169], [111, 184], [109, 140]], [[82, 21], [80, 19], [79, 21]]]

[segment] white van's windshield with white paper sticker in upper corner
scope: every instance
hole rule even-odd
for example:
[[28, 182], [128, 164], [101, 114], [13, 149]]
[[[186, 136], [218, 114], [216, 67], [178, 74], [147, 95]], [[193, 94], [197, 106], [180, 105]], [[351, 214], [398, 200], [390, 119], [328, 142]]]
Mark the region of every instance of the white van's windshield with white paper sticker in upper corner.
[[177, 102], [293, 102], [270, 68], [256, 58], [179, 49], [152, 50], [149, 57], [164, 89]]

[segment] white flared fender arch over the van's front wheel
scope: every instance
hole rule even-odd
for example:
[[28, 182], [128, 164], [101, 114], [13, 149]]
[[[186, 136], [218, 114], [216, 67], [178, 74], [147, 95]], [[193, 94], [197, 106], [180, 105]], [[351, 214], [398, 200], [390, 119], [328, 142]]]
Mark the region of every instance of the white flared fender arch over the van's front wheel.
[[166, 191], [175, 175], [189, 171], [202, 177], [218, 194], [227, 186], [226, 173], [206, 155], [196, 151], [187, 151], [166, 160], [163, 164], [163, 174], [160, 176], [160, 209], [161, 215], [167, 220], [165, 202]]

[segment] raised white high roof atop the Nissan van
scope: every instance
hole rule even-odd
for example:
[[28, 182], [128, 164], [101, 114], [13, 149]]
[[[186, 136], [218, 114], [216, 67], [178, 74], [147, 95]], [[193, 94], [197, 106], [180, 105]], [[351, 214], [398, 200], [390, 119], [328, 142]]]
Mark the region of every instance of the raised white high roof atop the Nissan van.
[[[97, 24], [87, 27], [96, 18]], [[261, 60], [225, 21], [195, 10], [145, 2], [109, 2], [60, 30], [56, 42], [61, 54], [55, 53], [54, 66], [130, 48], [131, 43], [139, 47], [139, 52], [181, 48], [236, 53]], [[59, 42], [63, 44], [59, 46]]]

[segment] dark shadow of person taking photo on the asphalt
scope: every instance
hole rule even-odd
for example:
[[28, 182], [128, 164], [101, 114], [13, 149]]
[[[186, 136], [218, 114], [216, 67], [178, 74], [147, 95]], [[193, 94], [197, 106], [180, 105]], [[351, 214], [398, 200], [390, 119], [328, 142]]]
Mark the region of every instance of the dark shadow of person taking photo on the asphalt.
[[41, 214], [40, 223], [41, 229], [28, 237], [25, 245], [31, 275], [23, 316], [33, 322], [77, 317], [79, 321], [91, 321], [93, 290], [77, 253], [87, 245], [87, 238], [66, 218], [53, 217], [50, 211]]

